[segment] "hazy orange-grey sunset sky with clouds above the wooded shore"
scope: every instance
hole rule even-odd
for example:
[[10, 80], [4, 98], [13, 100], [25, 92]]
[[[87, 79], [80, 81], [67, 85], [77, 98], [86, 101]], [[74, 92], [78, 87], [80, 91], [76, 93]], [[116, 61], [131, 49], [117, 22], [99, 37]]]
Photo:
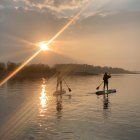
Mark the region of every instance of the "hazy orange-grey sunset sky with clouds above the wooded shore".
[[24, 62], [83, 10], [32, 63], [140, 71], [140, 0], [0, 0], [0, 62]]

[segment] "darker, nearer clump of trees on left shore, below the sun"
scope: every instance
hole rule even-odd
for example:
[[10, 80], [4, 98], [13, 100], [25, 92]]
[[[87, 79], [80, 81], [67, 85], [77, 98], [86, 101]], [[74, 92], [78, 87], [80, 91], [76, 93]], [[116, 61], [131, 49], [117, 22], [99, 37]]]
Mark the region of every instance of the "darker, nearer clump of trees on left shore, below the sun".
[[[5, 77], [15, 71], [22, 63], [0, 63], [0, 77]], [[50, 77], [56, 73], [55, 67], [46, 64], [29, 64], [23, 67], [13, 78], [38, 78]]]

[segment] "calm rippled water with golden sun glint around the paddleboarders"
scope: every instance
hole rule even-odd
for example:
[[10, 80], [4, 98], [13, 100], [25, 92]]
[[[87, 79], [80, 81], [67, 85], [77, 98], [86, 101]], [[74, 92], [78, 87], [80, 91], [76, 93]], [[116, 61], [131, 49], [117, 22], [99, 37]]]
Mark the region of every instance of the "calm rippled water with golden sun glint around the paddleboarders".
[[140, 75], [113, 75], [108, 102], [94, 94], [101, 80], [67, 78], [63, 97], [53, 96], [56, 79], [9, 81], [0, 87], [0, 140], [139, 140]]

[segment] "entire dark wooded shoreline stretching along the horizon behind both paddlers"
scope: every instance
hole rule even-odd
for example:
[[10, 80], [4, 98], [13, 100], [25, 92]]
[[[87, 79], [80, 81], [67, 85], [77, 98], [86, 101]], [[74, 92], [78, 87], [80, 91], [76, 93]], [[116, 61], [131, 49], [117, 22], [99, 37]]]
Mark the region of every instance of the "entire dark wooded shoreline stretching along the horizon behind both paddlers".
[[[22, 63], [7, 62], [0, 63], [0, 77], [12, 73]], [[103, 74], [104, 72], [114, 74], [130, 74], [128, 70], [122, 68], [101, 67], [87, 64], [57, 64], [50, 67], [47, 64], [29, 64], [26, 65], [20, 72], [15, 75], [15, 78], [38, 78], [38, 77], [51, 77], [57, 71], [61, 71], [66, 75], [95, 75]]]

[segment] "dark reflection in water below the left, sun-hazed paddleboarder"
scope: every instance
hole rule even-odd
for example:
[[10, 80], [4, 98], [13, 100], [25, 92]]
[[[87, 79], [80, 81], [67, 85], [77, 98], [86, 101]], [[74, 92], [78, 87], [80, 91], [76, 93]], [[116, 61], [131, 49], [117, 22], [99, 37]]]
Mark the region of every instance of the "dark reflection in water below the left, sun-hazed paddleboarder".
[[62, 117], [62, 95], [56, 96], [56, 110], [57, 110], [57, 118], [60, 119]]

